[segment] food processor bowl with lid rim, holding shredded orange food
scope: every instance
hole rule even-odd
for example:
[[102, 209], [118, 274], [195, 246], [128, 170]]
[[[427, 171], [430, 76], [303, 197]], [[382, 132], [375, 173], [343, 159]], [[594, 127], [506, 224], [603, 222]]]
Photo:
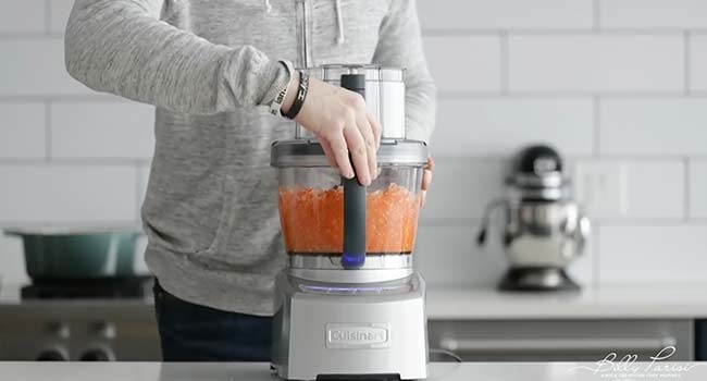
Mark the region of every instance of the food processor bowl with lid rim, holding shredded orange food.
[[[344, 187], [319, 143], [273, 145], [278, 170], [278, 207], [285, 249], [290, 256], [342, 256]], [[414, 246], [426, 146], [394, 140], [381, 145], [379, 176], [367, 187], [365, 254], [409, 255]]]

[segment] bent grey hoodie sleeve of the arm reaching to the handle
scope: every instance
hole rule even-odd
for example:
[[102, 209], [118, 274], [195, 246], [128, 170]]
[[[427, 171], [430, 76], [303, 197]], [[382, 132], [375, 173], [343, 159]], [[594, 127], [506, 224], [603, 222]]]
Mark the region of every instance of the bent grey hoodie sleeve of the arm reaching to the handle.
[[287, 66], [159, 20], [164, 0], [76, 0], [65, 34], [69, 73], [86, 86], [176, 112], [269, 106]]

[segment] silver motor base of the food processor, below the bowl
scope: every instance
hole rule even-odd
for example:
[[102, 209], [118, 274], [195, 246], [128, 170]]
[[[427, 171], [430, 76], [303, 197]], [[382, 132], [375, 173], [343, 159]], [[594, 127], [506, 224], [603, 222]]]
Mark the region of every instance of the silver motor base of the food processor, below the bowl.
[[286, 380], [425, 379], [424, 294], [418, 273], [335, 283], [285, 270], [275, 282], [272, 367]]

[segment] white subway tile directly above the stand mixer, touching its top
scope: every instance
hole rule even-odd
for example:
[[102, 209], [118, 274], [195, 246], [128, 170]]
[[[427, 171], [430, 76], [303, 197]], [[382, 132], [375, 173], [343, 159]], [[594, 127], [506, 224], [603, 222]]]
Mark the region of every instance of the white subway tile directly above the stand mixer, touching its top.
[[435, 156], [509, 156], [546, 142], [563, 155], [592, 152], [593, 108], [586, 98], [469, 98], [438, 102]]

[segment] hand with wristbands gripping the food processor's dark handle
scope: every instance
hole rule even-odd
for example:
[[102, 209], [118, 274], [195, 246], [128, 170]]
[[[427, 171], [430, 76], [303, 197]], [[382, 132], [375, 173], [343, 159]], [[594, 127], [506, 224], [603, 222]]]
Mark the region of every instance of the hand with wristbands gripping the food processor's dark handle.
[[[293, 75], [284, 112], [292, 107], [297, 84], [299, 74]], [[356, 174], [361, 185], [370, 185], [377, 176], [376, 152], [382, 128], [368, 112], [363, 97], [310, 78], [307, 98], [295, 121], [314, 134], [330, 164], [344, 177], [352, 179]]]

